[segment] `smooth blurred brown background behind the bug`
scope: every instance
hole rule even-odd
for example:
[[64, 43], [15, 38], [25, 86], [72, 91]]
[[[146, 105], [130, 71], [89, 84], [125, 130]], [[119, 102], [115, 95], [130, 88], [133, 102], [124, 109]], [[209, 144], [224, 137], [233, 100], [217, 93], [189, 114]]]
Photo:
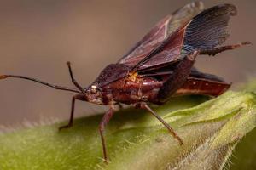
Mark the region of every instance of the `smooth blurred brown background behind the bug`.
[[[0, 73], [38, 77], [45, 82], [73, 87], [67, 60], [86, 87], [103, 67], [116, 62], [154, 24], [189, 0], [0, 0]], [[204, 1], [206, 8], [233, 3], [238, 16], [230, 21], [225, 44], [254, 42], [256, 1]], [[247, 46], [201, 56], [201, 71], [224, 77], [235, 87], [256, 74], [256, 48]], [[66, 120], [73, 94], [34, 82], [0, 82], [0, 125], [40, 122], [52, 117]], [[105, 106], [77, 102], [75, 116], [102, 112]]]

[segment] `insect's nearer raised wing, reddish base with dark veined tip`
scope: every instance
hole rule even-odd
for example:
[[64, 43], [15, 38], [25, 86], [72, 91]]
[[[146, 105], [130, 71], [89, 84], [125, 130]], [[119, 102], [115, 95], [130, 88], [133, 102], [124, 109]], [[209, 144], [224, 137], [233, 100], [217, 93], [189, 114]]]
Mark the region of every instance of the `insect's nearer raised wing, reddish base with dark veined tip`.
[[215, 48], [229, 37], [227, 26], [230, 16], [234, 15], [236, 7], [231, 4], [217, 5], [197, 14], [186, 26], [172, 33], [157, 53], [143, 59], [137, 70], [159, 69], [161, 65], [171, 65], [194, 51]]

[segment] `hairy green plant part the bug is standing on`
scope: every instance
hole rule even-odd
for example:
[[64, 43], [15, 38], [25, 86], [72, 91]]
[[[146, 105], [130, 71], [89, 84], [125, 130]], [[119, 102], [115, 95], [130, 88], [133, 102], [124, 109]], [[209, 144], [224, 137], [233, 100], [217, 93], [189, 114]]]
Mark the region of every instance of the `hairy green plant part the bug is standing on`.
[[61, 133], [57, 128], [65, 122], [1, 134], [0, 169], [222, 169], [256, 126], [256, 95], [228, 92], [206, 100], [179, 97], [152, 106], [183, 139], [182, 146], [147, 111], [125, 109], [108, 124], [108, 164], [102, 161], [99, 115], [79, 118]]

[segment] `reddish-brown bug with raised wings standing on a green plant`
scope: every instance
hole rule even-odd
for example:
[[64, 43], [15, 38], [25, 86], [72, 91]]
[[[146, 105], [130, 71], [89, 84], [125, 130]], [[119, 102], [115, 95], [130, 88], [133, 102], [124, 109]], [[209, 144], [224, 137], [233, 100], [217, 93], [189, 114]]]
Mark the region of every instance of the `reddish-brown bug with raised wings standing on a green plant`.
[[148, 103], [161, 105], [174, 95], [218, 96], [230, 88], [230, 83], [197, 71], [193, 65], [197, 55], [215, 55], [249, 44], [243, 42], [218, 47], [229, 37], [227, 26], [230, 16], [234, 15], [236, 7], [232, 4], [221, 4], [204, 10], [201, 2], [189, 3], [160, 20], [130, 52], [116, 64], [108, 65], [87, 88], [82, 88], [75, 80], [69, 62], [67, 66], [76, 88], [55, 86], [31, 77], [2, 75], [0, 78], [22, 78], [77, 93], [72, 99], [69, 122], [60, 127], [60, 130], [72, 127], [76, 99], [108, 105], [109, 110], [99, 126], [105, 161], [108, 156], [103, 132], [113, 116], [114, 105], [135, 105], [137, 108], [148, 110], [163, 123], [179, 144], [183, 144], [183, 140], [172, 127], [152, 111]]

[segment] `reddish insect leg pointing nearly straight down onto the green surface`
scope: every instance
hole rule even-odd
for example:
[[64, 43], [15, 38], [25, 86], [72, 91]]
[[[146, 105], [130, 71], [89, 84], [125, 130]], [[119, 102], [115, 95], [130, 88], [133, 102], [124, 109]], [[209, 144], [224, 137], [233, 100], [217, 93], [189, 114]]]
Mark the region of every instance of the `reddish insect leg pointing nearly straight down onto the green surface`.
[[113, 105], [110, 105], [109, 110], [104, 114], [102, 121], [100, 123], [100, 126], [99, 126], [101, 139], [102, 139], [103, 156], [104, 156], [104, 160], [106, 162], [108, 162], [108, 155], [107, 155], [107, 149], [106, 149], [106, 142], [105, 142], [105, 138], [104, 138], [104, 130], [112, 116], [113, 116]]

